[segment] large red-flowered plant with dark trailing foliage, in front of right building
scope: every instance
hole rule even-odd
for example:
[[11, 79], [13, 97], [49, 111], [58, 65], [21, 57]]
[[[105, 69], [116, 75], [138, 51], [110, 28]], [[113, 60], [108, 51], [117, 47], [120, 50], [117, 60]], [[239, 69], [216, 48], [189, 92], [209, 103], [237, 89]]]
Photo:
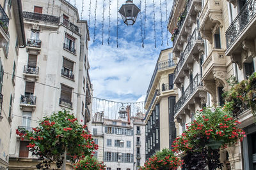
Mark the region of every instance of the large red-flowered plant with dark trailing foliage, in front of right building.
[[243, 140], [245, 132], [232, 117], [231, 111], [220, 106], [197, 111], [196, 120], [173, 141], [173, 152], [184, 152], [184, 167], [188, 169], [221, 168], [220, 148]]

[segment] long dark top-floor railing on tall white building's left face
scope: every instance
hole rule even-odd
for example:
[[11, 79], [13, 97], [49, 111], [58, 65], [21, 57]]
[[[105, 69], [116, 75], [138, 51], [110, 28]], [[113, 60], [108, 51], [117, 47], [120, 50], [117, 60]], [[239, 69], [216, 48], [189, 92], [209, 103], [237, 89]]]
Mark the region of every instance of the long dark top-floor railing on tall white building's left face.
[[23, 17], [29, 20], [40, 20], [44, 22], [51, 22], [52, 24], [59, 24], [60, 17], [53, 15], [46, 15], [42, 13], [33, 13], [28, 11], [23, 11]]

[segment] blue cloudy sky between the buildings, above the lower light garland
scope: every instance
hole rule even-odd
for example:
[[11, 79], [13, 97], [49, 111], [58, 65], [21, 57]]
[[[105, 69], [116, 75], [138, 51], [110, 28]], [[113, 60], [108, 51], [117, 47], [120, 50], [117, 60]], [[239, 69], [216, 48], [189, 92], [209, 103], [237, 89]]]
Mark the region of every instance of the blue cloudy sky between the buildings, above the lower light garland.
[[[89, 15], [90, 1], [91, 15]], [[144, 34], [145, 1], [147, 1], [146, 32], [144, 39], [145, 48], [142, 48], [141, 27], [143, 31], [142, 34]], [[156, 4], [155, 18], [157, 48], [155, 48], [154, 41], [154, 1]], [[166, 1], [169, 17], [172, 1]], [[166, 45], [167, 23], [165, 0], [134, 0], [134, 3], [141, 8], [141, 13], [139, 13], [136, 23], [133, 26], [125, 25], [124, 22], [122, 22], [120, 14], [118, 15], [118, 48], [116, 47], [116, 14], [117, 8], [120, 8], [120, 6], [125, 3], [125, 0], [111, 0], [110, 27], [108, 26], [109, 0], [97, 0], [96, 21], [95, 3], [96, 0], [84, 0], [83, 6], [83, 20], [89, 21], [90, 18], [88, 58], [90, 62], [90, 78], [93, 83], [93, 96], [119, 102], [144, 101], [159, 52], [172, 46], [170, 41], [171, 34], [169, 32], [169, 46]], [[82, 0], [76, 0], [76, 4], [77, 8], [79, 8], [79, 13], [81, 14]], [[104, 12], [103, 4], [105, 6]], [[162, 16], [160, 12], [161, 8]], [[103, 13], [104, 15], [102, 15]], [[102, 45], [103, 18], [104, 31]], [[163, 25], [162, 46], [161, 23]], [[110, 39], [108, 36], [108, 29], [110, 30]], [[94, 42], [93, 39], [95, 40]]]

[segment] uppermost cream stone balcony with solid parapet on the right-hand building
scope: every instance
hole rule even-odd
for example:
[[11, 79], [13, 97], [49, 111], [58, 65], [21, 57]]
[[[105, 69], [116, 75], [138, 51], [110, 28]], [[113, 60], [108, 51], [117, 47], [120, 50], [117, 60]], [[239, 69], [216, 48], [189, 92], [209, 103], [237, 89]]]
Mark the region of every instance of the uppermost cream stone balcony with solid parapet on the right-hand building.
[[212, 32], [223, 25], [221, 0], [207, 0], [200, 13], [200, 34], [212, 44]]

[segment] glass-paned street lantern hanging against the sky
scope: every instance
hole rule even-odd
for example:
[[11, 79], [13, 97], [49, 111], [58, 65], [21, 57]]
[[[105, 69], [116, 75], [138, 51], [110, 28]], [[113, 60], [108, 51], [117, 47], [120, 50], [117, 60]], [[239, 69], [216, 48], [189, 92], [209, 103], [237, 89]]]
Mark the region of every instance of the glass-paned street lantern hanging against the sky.
[[138, 8], [138, 6], [136, 6], [132, 0], [127, 0], [119, 10], [119, 13], [121, 14], [122, 19], [126, 25], [133, 25], [139, 12], [140, 8]]

